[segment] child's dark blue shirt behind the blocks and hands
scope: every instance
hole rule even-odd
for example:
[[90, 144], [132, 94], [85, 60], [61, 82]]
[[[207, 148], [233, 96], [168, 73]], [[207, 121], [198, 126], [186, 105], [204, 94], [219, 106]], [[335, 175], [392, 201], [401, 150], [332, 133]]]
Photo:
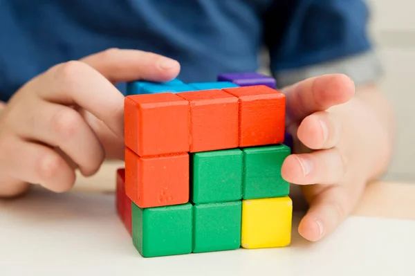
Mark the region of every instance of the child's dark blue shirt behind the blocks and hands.
[[184, 82], [273, 73], [369, 50], [363, 0], [0, 0], [0, 100], [54, 64], [107, 48], [181, 62]]

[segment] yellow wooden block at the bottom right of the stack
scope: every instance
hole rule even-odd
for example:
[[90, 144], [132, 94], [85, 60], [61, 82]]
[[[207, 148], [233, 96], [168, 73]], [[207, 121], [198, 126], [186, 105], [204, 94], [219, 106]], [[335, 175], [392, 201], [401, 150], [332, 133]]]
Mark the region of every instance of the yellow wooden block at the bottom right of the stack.
[[242, 201], [241, 246], [276, 248], [291, 243], [293, 202], [288, 196]]

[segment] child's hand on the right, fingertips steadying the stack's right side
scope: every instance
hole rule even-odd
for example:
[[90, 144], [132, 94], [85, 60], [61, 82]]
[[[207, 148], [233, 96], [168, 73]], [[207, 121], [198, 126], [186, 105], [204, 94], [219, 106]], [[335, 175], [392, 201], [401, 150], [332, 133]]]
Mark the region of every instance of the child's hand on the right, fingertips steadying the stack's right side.
[[299, 233], [317, 241], [347, 217], [366, 183], [387, 166], [391, 112], [374, 89], [354, 95], [344, 75], [323, 75], [283, 91], [295, 146], [282, 175], [302, 185], [310, 208]]

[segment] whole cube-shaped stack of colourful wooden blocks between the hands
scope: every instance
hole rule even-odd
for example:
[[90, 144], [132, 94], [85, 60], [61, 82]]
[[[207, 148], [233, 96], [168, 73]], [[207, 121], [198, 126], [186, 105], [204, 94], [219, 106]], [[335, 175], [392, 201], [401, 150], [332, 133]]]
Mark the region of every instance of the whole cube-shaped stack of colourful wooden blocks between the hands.
[[143, 257], [291, 243], [285, 107], [257, 73], [128, 84], [116, 204]]

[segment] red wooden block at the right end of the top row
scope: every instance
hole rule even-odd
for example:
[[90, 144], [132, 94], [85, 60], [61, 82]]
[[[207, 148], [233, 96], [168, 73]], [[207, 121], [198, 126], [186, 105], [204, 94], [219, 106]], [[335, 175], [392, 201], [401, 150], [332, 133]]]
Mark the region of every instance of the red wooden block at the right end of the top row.
[[239, 147], [284, 141], [286, 98], [283, 93], [264, 85], [223, 91], [239, 98]]

